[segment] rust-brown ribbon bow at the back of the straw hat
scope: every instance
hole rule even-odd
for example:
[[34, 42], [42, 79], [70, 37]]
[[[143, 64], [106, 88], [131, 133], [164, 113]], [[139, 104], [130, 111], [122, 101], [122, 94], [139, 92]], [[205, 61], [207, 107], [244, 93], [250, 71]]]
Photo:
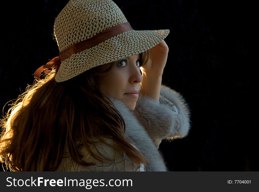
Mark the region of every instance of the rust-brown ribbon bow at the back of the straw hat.
[[52, 71], [52, 69], [54, 67], [56, 67], [56, 73], [58, 72], [59, 66], [60, 66], [60, 57], [54, 57], [52, 60], [50, 60], [47, 64], [42, 65], [41, 67], [39, 67], [35, 73], [34, 73], [34, 78], [36, 79], [36, 81], [40, 81], [40, 75], [42, 72], [44, 73], [49, 73]]

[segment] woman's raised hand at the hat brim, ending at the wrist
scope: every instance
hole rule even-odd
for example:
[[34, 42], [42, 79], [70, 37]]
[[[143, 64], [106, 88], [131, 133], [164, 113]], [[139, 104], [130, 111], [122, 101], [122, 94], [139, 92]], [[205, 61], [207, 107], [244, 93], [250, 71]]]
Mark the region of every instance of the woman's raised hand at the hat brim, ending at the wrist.
[[168, 46], [165, 40], [150, 49], [150, 58], [142, 67], [142, 72], [152, 74], [152, 76], [162, 76], [168, 55]]

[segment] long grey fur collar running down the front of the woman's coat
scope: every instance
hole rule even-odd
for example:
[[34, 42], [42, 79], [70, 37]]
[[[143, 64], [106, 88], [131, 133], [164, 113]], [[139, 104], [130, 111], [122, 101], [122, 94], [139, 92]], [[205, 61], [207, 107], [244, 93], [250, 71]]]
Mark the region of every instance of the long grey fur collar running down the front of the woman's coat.
[[137, 147], [148, 160], [146, 171], [167, 171], [162, 155], [155, 147], [150, 136], [140, 125], [135, 113], [124, 103], [111, 98], [111, 101], [121, 113], [126, 125], [126, 137]]

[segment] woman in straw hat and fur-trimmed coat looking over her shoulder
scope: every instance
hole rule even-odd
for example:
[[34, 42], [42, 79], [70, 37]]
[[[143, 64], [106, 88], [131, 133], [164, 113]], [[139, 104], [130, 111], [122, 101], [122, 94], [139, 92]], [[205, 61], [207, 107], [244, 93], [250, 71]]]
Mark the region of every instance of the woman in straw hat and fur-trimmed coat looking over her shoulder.
[[161, 86], [168, 33], [133, 30], [111, 0], [70, 0], [54, 24], [59, 57], [2, 120], [1, 161], [13, 171], [166, 171], [161, 140], [189, 130], [183, 98]]

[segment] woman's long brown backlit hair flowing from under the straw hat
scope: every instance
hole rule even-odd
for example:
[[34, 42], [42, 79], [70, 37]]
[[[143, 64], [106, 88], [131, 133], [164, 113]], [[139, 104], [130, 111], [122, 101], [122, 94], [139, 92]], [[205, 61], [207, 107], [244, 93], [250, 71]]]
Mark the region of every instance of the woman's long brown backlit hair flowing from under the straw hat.
[[[140, 55], [143, 65], [150, 53]], [[52, 70], [43, 80], [35, 81], [1, 119], [0, 161], [11, 171], [55, 171], [67, 147], [74, 162], [88, 166], [92, 163], [81, 159], [80, 145], [92, 157], [109, 160], [100, 159], [89, 148], [89, 144], [95, 147], [94, 139], [105, 142], [106, 136], [113, 138], [133, 162], [146, 164], [145, 156], [127, 141], [121, 114], [98, 91], [97, 78], [113, 66], [94, 67], [61, 83], [55, 81]]]

